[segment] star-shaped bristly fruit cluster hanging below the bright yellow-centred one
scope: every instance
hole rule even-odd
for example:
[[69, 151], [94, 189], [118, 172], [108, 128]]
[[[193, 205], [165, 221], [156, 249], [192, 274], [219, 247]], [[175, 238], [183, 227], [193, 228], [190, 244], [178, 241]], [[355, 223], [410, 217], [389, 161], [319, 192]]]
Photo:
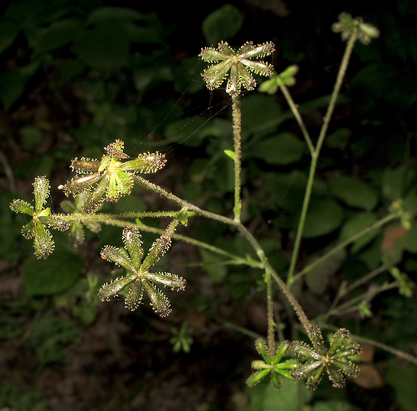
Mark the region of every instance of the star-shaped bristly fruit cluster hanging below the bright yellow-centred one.
[[149, 296], [150, 304], [161, 317], [171, 312], [168, 298], [155, 288], [153, 283], [169, 286], [172, 290], [179, 291], [185, 288], [185, 279], [175, 274], [151, 273], [149, 270], [169, 248], [170, 239], [178, 223], [179, 220], [175, 219], [169, 224], [162, 236], [154, 242], [142, 263], [142, 240], [139, 230], [135, 227], [127, 227], [123, 230], [124, 249], [112, 246], [102, 249], [102, 258], [123, 267], [128, 274], [114, 279], [109, 284], [104, 284], [99, 291], [101, 301], [109, 301], [111, 296], [116, 296], [118, 292], [131, 284], [125, 300], [127, 308], [132, 311], [136, 310], [145, 292]]

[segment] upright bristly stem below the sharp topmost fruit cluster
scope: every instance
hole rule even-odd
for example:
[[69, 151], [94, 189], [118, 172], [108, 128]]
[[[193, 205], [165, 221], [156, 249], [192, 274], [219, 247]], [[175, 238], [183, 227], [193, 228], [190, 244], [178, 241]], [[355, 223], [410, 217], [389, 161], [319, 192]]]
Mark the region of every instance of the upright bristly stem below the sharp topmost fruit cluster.
[[240, 201], [240, 170], [241, 170], [241, 110], [240, 110], [240, 98], [239, 96], [233, 96], [232, 98], [232, 118], [233, 118], [233, 143], [235, 148], [235, 207], [233, 208], [234, 220], [240, 222], [240, 211], [242, 203]]

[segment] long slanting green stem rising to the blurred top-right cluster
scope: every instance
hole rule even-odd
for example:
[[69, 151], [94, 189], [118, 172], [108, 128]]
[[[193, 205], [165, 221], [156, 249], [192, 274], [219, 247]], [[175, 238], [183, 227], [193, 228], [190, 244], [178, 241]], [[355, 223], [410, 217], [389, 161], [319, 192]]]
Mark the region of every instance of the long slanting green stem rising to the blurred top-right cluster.
[[332, 97], [330, 99], [330, 104], [329, 104], [329, 107], [327, 109], [326, 116], [324, 118], [323, 126], [321, 126], [321, 130], [320, 130], [320, 134], [318, 136], [316, 147], [315, 147], [315, 149], [314, 149], [314, 151], [311, 155], [312, 159], [311, 159], [309, 177], [308, 177], [308, 181], [307, 181], [306, 193], [305, 193], [305, 196], [304, 196], [304, 201], [302, 203], [300, 220], [298, 222], [297, 234], [296, 234], [295, 241], [294, 241], [294, 249], [293, 249], [293, 254], [292, 254], [291, 263], [290, 263], [290, 269], [289, 269], [288, 277], [287, 277], [287, 284], [289, 284], [289, 285], [293, 283], [295, 265], [296, 265], [297, 258], [298, 258], [298, 252], [299, 252], [299, 248], [300, 248], [302, 232], [304, 230], [304, 225], [305, 225], [305, 222], [306, 222], [307, 210], [308, 210], [309, 203], [310, 203], [311, 190], [312, 190], [312, 186], [313, 186], [314, 175], [315, 175], [315, 172], [316, 172], [318, 156], [320, 154], [321, 146], [323, 145], [323, 142], [324, 142], [324, 139], [325, 139], [325, 136], [326, 136], [326, 133], [327, 133], [327, 128], [329, 126], [330, 119], [331, 119], [332, 114], [333, 114], [334, 106], [336, 104], [336, 99], [337, 99], [337, 96], [338, 96], [339, 91], [340, 91], [340, 86], [342, 86], [342, 81], [343, 81], [343, 78], [345, 77], [345, 73], [346, 73], [346, 69], [348, 67], [350, 55], [352, 54], [353, 46], [355, 44], [356, 35], [357, 34], [356, 34], [356, 30], [355, 30], [353, 32], [352, 36], [350, 37], [350, 39], [348, 41], [348, 44], [346, 46], [346, 50], [345, 50], [345, 53], [344, 53], [343, 59], [342, 59], [342, 64], [340, 64], [340, 69], [339, 69], [339, 72], [337, 74], [336, 83], [334, 85]]

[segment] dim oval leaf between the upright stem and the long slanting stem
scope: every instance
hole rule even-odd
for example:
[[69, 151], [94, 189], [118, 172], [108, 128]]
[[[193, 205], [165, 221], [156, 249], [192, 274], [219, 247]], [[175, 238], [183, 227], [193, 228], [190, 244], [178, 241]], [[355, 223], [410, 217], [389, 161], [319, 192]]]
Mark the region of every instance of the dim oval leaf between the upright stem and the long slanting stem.
[[293, 133], [285, 132], [269, 137], [251, 148], [249, 157], [261, 158], [269, 164], [286, 165], [301, 160], [306, 144]]

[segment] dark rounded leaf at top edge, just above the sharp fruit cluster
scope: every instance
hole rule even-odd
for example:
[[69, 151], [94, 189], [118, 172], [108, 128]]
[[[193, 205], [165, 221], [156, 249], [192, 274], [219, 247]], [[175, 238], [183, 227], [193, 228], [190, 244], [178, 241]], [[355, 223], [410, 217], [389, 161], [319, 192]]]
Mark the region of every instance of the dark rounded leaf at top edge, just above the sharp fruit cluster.
[[225, 4], [210, 13], [202, 23], [208, 45], [216, 46], [221, 40], [232, 38], [242, 27], [243, 15], [235, 6]]

